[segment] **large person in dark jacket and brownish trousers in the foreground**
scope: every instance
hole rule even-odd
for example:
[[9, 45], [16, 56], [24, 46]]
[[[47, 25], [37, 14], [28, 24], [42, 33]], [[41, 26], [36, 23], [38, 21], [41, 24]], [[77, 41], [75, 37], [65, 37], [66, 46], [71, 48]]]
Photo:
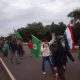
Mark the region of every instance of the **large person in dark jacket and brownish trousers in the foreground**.
[[61, 41], [61, 38], [57, 38], [54, 50], [52, 52], [52, 62], [54, 63], [54, 70], [56, 72], [56, 80], [66, 80], [64, 71], [66, 69], [67, 56], [75, 62], [75, 59], [71, 55], [68, 48], [65, 48], [65, 44]]

